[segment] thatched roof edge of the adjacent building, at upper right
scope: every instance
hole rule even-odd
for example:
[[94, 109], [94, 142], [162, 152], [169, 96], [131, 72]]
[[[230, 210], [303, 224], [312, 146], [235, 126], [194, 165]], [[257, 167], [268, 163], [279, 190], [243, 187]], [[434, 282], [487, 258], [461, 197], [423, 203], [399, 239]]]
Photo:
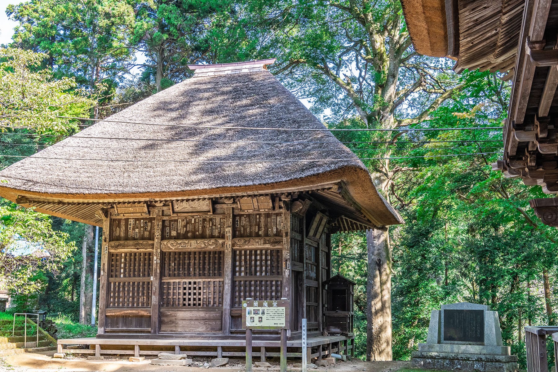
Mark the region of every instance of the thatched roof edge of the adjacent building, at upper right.
[[523, 0], [402, 0], [415, 50], [457, 60], [454, 69], [509, 71], [516, 61]]

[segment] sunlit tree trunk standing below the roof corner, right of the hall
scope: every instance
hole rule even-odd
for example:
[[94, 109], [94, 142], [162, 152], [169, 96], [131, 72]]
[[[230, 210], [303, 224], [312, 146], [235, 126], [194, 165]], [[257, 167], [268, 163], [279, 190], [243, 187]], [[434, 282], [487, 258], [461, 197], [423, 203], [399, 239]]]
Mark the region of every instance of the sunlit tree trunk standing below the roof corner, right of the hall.
[[366, 360], [391, 360], [391, 247], [388, 231], [368, 230], [366, 241]]

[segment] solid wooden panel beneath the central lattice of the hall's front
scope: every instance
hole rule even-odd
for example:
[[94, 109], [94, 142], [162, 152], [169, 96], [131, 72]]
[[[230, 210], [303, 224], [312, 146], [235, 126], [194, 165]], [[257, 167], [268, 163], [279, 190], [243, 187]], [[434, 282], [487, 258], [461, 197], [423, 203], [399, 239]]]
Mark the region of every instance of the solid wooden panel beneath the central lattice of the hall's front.
[[222, 312], [220, 308], [195, 310], [161, 308], [161, 332], [221, 332]]

